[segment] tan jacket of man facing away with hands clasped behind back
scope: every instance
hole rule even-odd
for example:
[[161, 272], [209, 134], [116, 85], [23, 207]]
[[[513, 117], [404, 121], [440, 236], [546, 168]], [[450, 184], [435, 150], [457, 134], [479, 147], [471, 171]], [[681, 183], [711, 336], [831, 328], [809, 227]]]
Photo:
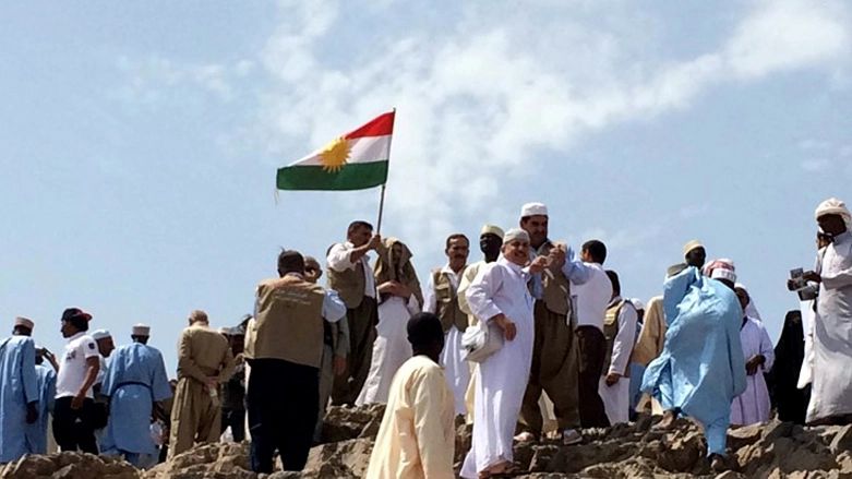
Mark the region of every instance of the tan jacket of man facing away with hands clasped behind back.
[[232, 373], [233, 355], [225, 336], [203, 323], [183, 330], [178, 343], [178, 379], [206, 383], [208, 378], [218, 378], [225, 382]]

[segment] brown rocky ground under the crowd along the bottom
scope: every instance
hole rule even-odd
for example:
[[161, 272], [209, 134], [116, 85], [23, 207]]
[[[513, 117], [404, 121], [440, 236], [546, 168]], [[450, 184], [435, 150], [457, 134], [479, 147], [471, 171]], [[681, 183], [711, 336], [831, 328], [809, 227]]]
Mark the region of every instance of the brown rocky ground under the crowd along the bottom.
[[[325, 443], [311, 450], [305, 470], [275, 472], [280, 478], [360, 478], [382, 406], [332, 408], [325, 419]], [[584, 431], [574, 446], [557, 442], [520, 444], [515, 459], [528, 478], [852, 478], [852, 426], [803, 428], [772, 421], [729, 433], [728, 472], [716, 475], [705, 459], [706, 444], [697, 426], [681, 419], [671, 431], [653, 428], [656, 419]], [[470, 446], [470, 427], [459, 424], [456, 466]], [[87, 454], [27, 456], [0, 468], [2, 478], [63, 479], [261, 479], [249, 467], [249, 446], [209, 444], [195, 447], [151, 470]]]

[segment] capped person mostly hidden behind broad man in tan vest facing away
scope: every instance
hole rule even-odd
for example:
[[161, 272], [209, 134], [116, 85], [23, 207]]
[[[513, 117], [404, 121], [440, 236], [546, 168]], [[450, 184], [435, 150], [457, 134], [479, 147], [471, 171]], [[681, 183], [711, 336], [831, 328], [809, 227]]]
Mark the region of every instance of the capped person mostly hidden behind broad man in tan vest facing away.
[[[320, 262], [304, 256], [304, 279], [316, 284], [323, 275]], [[349, 354], [349, 323], [346, 321], [323, 322], [323, 360], [320, 364], [320, 410], [316, 414], [316, 427], [313, 442], [323, 439], [323, 419], [328, 399], [332, 397], [334, 378], [346, 372], [346, 356]]]

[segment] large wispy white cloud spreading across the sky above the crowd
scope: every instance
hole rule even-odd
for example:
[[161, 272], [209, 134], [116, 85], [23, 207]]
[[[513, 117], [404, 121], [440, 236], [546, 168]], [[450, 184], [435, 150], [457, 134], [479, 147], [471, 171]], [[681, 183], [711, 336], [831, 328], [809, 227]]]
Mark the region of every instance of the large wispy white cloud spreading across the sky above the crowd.
[[[588, 131], [687, 108], [724, 82], [848, 62], [839, 1], [753, 2], [715, 51], [680, 61], [643, 53], [658, 47], [637, 45], [655, 41], [648, 28], [657, 23], [619, 13], [629, 3], [597, 5], [549, 2], [514, 16], [515, 7], [469, 5], [440, 31], [410, 25], [363, 49], [335, 44], [345, 57], [335, 64], [325, 41], [344, 26], [340, 3], [288, 3], [261, 56], [277, 80], [268, 148], [319, 145], [398, 107], [388, 209], [409, 219], [406, 235], [424, 237], [478, 217], [512, 188], [507, 178], [535, 169], [544, 153], [566, 154]], [[614, 20], [600, 28], [578, 11]]]

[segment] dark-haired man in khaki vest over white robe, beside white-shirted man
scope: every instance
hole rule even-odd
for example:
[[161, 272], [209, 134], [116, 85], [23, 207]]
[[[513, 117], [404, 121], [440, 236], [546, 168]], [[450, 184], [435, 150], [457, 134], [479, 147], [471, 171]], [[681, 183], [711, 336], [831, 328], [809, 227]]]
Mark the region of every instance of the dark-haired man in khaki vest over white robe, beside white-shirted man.
[[621, 297], [617, 273], [608, 270], [612, 283], [612, 299], [603, 319], [603, 336], [607, 339], [602, 374], [598, 393], [610, 423], [627, 422], [631, 407], [631, 378], [627, 360], [633, 352], [638, 313], [631, 301]]

